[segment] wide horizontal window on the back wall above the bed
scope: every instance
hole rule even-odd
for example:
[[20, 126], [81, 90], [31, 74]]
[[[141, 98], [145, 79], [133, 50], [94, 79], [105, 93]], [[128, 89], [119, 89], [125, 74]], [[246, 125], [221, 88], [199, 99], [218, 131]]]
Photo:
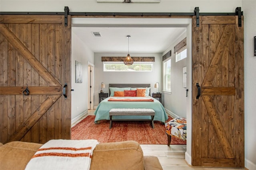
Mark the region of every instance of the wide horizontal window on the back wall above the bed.
[[132, 65], [125, 65], [123, 62], [109, 62], [104, 61], [103, 63], [104, 71], [141, 71], [141, 72], [150, 72], [153, 71], [153, 62], [134, 62]]

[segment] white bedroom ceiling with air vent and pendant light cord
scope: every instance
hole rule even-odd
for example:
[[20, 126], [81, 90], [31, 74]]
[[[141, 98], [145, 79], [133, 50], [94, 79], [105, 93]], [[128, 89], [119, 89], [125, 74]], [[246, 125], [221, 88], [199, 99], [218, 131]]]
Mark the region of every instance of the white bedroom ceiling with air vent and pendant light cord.
[[[159, 20], [75, 18], [72, 31], [94, 53], [128, 53], [128, 41], [129, 53], [163, 53], [186, 31], [188, 23], [187, 20], [176, 24], [170, 19]], [[101, 37], [95, 37], [92, 32], [100, 32]]]

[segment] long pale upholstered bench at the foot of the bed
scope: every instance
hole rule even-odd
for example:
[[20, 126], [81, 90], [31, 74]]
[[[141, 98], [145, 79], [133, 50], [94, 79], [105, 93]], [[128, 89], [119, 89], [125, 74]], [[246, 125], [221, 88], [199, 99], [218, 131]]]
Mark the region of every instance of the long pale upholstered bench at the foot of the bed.
[[[113, 115], [143, 115], [143, 116], [151, 116], [151, 119], [112, 119]], [[109, 125], [109, 129], [111, 129], [112, 127], [112, 120], [150, 120], [151, 121], [151, 125], [152, 128], [154, 129], [154, 116], [155, 116], [155, 111], [153, 109], [141, 109], [141, 108], [134, 108], [134, 109], [125, 109], [125, 108], [114, 108], [114, 109], [110, 109], [109, 111], [109, 117], [110, 117], [110, 125]]]

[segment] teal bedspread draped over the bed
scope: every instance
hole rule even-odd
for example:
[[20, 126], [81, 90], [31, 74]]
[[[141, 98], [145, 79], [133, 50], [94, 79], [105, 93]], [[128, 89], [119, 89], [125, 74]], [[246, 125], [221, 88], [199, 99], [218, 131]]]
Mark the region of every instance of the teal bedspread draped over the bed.
[[[155, 98], [149, 97], [154, 99], [154, 102], [109, 102], [108, 101], [109, 98], [110, 97], [100, 102], [100, 104], [96, 108], [94, 112], [94, 115], [96, 115], [94, 119], [94, 123], [96, 123], [99, 120], [110, 120], [109, 111], [112, 108], [154, 109], [155, 111], [154, 121], [161, 121], [165, 123], [165, 121], [168, 119], [168, 115], [164, 110], [164, 106]], [[118, 97], [111, 97], [111, 98], [118, 98]], [[127, 98], [139, 99], [140, 97], [127, 97]], [[150, 116], [113, 116], [112, 119], [150, 119]]]

